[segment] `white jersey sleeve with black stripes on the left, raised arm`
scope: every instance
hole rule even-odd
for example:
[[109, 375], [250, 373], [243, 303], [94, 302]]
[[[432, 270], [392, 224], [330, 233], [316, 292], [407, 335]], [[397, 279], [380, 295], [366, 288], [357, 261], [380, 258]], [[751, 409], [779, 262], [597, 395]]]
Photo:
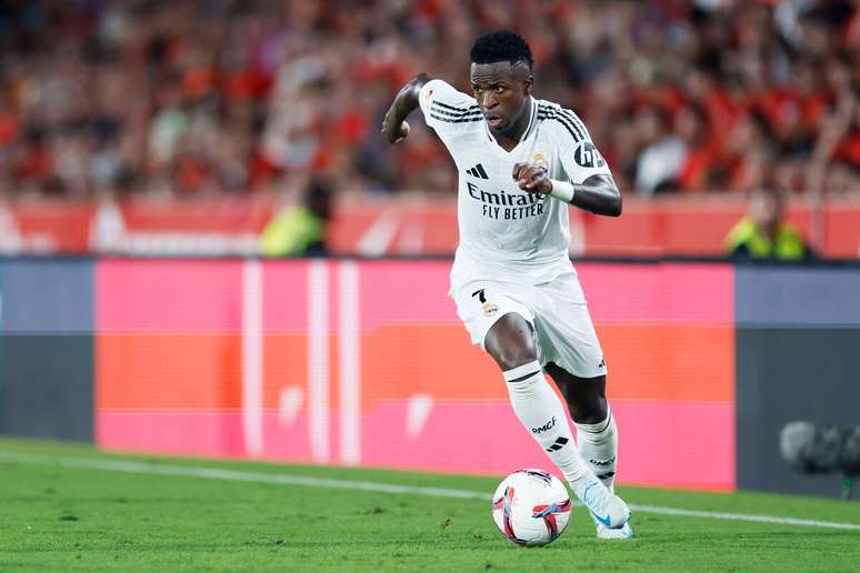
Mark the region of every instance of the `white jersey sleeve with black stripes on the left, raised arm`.
[[442, 80], [430, 80], [419, 97], [424, 121], [444, 141], [474, 129], [483, 121], [478, 102]]

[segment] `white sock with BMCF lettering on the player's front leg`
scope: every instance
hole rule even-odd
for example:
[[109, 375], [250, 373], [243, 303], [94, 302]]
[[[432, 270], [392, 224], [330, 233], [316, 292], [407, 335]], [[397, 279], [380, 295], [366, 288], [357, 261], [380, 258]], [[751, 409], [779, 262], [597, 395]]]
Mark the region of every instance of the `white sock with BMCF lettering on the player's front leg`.
[[[571, 485], [593, 474], [577, 452], [561, 400], [536, 360], [503, 372], [517, 418]], [[574, 485], [576, 487], [576, 485]]]

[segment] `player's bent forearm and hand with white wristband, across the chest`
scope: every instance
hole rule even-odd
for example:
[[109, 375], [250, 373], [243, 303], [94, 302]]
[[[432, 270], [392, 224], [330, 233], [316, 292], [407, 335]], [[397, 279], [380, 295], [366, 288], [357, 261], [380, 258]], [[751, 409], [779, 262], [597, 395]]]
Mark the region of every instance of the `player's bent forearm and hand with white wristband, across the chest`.
[[621, 214], [621, 191], [609, 173], [597, 173], [581, 183], [571, 183], [550, 179], [542, 165], [517, 163], [513, 179], [529, 193], [543, 193], [596, 214]]

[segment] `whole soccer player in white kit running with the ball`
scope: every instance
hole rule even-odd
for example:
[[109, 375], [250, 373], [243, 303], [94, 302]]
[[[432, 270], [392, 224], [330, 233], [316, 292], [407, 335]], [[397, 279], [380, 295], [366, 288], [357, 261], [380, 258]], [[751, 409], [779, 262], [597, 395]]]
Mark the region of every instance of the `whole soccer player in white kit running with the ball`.
[[[599, 537], [630, 537], [614, 495], [618, 430], [607, 366], [570, 262], [568, 205], [621, 214], [621, 193], [576, 113], [532, 97], [532, 56], [510, 31], [471, 50], [473, 96], [419, 73], [398, 92], [382, 132], [409, 134], [418, 107], [459, 171], [460, 244], [449, 294], [471, 334], [502, 370], [526, 430], [589, 509]], [[573, 442], [562, 391], [578, 429]]]

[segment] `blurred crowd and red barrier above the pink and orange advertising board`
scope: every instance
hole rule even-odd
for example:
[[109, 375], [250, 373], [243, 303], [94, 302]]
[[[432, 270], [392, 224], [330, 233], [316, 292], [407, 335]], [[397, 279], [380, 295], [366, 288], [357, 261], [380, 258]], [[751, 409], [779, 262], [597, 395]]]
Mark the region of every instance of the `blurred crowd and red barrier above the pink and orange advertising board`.
[[420, 113], [407, 144], [379, 128], [419, 71], [469, 91], [496, 28], [627, 195], [609, 227], [573, 213], [576, 254], [722, 254], [762, 187], [814, 252], [860, 253], [852, 0], [4, 1], [0, 249], [259, 252], [323, 189], [330, 252], [450, 253], [444, 148]]

